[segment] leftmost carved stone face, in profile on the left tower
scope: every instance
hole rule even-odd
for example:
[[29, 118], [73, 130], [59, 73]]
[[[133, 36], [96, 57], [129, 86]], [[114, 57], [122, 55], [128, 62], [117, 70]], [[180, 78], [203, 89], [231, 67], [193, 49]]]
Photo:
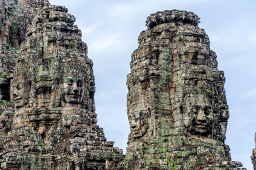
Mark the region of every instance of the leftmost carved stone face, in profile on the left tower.
[[28, 103], [28, 86], [24, 83], [18, 83], [14, 86], [14, 104], [16, 108], [21, 108]]

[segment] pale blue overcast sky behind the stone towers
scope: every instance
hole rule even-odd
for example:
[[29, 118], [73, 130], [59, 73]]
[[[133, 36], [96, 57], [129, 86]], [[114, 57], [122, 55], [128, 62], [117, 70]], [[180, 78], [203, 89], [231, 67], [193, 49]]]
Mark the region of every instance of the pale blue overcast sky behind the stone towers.
[[94, 62], [98, 125], [107, 140], [125, 150], [129, 124], [126, 101], [129, 62], [150, 13], [193, 11], [210, 38], [225, 72], [230, 106], [227, 140], [234, 161], [252, 170], [250, 156], [256, 132], [256, 1], [255, 0], [50, 0], [66, 6], [82, 30]]

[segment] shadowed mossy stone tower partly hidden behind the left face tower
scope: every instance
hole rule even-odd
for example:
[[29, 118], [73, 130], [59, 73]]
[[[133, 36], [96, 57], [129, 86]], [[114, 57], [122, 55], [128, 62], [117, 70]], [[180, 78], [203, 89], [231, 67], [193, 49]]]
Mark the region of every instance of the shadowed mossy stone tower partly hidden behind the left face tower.
[[11, 130], [14, 116], [12, 85], [21, 42], [33, 24], [33, 16], [48, 5], [48, 0], [0, 0], [0, 141]]

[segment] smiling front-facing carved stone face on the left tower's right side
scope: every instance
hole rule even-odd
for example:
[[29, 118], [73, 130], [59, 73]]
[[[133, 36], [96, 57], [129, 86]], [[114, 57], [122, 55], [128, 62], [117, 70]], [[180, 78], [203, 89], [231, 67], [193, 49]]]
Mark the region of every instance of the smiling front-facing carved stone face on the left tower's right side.
[[63, 101], [65, 103], [81, 103], [85, 94], [84, 84], [81, 79], [67, 79], [64, 83]]

